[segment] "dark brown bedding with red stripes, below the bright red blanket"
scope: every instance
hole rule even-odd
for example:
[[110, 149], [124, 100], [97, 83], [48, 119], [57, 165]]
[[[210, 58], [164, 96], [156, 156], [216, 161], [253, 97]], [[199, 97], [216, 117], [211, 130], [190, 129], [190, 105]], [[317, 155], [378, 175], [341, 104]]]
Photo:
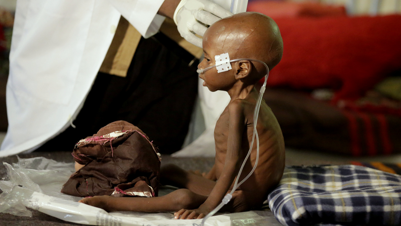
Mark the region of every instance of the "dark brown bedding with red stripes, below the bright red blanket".
[[263, 98], [286, 147], [354, 156], [401, 152], [401, 117], [396, 115], [339, 108], [291, 89], [266, 89]]

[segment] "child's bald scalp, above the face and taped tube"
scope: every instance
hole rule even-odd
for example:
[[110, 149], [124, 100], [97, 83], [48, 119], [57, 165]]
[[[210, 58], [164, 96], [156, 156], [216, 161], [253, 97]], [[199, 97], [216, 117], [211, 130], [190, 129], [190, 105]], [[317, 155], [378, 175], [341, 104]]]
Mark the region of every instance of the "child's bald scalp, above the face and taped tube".
[[[249, 58], [266, 63], [271, 70], [283, 55], [283, 40], [277, 24], [257, 12], [243, 12], [223, 18], [210, 26], [203, 37], [204, 50], [222, 54], [230, 59]], [[263, 65], [254, 63], [257, 72]]]

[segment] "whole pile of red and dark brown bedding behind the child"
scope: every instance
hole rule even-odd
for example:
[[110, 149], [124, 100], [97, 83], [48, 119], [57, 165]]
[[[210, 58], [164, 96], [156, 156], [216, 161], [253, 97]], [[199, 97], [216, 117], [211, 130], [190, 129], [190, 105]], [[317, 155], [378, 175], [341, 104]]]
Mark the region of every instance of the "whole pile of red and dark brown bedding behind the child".
[[[267, 85], [290, 89], [264, 95], [286, 146], [354, 156], [400, 153], [401, 16], [299, 15], [274, 15], [284, 54]], [[317, 89], [334, 95], [313, 99], [309, 92]]]

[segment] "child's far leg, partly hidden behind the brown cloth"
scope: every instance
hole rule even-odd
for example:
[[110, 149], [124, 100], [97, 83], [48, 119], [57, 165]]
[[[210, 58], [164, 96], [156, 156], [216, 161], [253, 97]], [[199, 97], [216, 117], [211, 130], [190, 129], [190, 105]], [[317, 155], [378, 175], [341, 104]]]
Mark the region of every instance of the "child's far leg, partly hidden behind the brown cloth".
[[160, 184], [186, 188], [196, 194], [209, 196], [216, 182], [169, 164], [160, 170]]

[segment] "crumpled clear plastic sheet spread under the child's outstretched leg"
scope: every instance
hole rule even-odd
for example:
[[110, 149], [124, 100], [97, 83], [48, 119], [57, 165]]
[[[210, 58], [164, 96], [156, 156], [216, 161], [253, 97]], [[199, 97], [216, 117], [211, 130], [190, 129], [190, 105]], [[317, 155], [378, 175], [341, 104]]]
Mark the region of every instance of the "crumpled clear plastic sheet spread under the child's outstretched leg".
[[[18, 158], [18, 163], [3, 163], [7, 178], [0, 181], [0, 212], [17, 216], [32, 216], [28, 208], [61, 220], [89, 225], [121, 226], [198, 226], [201, 220], [174, 220], [172, 212], [110, 212], [77, 202], [80, 197], [62, 194], [63, 184], [74, 172], [73, 163], [57, 162], [44, 157]], [[159, 195], [173, 191], [170, 186], [160, 188]], [[207, 220], [209, 226], [279, 226], [271, 211], [249, 211], [220, 214]]]

